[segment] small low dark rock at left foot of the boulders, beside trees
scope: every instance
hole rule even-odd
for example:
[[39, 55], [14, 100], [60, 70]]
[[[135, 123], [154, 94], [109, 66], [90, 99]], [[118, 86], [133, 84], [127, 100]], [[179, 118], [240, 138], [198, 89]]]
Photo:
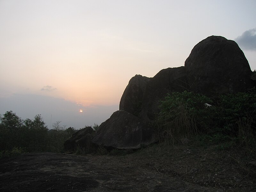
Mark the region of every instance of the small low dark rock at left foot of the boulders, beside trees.
[[64, 143], [65, 151], [74, 151], [77, 147], [92, 148], [92, 134], [95, 131], [92, 127], [85, 127], [75, 132], [72, 137]]

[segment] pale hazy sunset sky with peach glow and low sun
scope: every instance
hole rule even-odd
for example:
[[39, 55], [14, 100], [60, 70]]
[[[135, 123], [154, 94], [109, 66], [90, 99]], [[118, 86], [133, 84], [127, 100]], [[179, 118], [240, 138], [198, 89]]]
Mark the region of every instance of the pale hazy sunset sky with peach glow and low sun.
[[0, 0], [0, 114], [100, 125], [133, 76], [184, 66], [212, 35], [235, 40], [254, 70], [255, 9], [255, 0]]

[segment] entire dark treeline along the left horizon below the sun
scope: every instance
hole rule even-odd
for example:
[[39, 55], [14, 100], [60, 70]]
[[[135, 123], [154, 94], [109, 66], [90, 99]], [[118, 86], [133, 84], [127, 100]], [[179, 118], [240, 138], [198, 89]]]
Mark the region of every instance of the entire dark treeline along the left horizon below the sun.
[[64, 152], [63, 144], [74, 132], [74, 128], [65, 129], [60, 122], [49, 130], [41, 115], [22, 120], [7, 111], [0, 117], [0, 157], [26, 152]]

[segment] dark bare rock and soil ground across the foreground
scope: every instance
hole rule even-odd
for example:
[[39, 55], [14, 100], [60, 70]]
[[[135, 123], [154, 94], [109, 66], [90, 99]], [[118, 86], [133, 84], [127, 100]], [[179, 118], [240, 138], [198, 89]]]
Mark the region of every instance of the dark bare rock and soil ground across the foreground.
[[242, 154], [231, 150], [152, 146], [122, 153], [4, 158], [0, 191], [256, 191], [254, 162], [241, 160]]

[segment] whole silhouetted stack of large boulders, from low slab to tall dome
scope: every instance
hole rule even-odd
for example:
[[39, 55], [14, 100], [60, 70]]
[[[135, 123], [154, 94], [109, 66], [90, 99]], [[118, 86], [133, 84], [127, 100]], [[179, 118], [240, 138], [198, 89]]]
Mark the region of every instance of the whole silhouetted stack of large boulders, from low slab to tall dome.
[[152, 78], [132, 77], [120, 100], [120, 110], [103, 122], [92, 139], [97, 145], [140, 148], [157, 141], [150, 122], [159, 100], [184, 90], [217, 98], [253, 87], [252, 71], [236, 42], [210, 36], [196, 44], [185, 66], [163, 69]]

